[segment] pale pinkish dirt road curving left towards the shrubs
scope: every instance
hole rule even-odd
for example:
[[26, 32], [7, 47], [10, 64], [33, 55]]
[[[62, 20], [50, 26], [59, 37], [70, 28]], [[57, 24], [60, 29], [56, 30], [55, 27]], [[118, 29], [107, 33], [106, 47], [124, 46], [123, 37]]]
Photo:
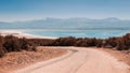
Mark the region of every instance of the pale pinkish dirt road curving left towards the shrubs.
[[12, 73], [129, 73], [129, 65], [105, 52], [83, 47], [58, 48], [69, 52], [62, 57], [38, 62]]

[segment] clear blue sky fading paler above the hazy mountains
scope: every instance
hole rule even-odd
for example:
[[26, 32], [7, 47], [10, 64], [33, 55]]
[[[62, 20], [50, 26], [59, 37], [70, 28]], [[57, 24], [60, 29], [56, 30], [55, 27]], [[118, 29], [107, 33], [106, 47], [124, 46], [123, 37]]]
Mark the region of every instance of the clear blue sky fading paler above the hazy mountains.
[[0, 21], [47, 17], [130, 19], [130, 0], [0, 0]]

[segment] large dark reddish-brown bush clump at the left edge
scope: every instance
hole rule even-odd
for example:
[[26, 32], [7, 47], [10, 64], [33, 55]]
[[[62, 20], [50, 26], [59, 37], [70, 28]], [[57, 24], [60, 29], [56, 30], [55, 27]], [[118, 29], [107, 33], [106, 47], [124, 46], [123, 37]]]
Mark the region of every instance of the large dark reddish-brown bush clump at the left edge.
[[25, 38], [18, 39], [13, 35], [0, 35], [0, 57], [5, 53], [21, 52], [22, 49], [36, 50], [34, 44]]

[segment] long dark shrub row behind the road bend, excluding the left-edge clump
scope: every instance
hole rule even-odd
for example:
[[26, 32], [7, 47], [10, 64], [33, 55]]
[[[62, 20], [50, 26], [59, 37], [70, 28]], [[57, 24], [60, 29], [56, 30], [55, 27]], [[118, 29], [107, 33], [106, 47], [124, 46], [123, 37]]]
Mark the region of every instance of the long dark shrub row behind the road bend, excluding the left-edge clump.
[[95, 39], [95, 38], [60, 38], [56, 40], [43, 40], [43, 39], [31, 39], [29, 42], [35, 42], [41, 46], [81, 46], [81, 47], [105, 47], [116, 48], [117, 50], [130, 49], [130, 33], [123, 36], [113, 36], [108, 39]]

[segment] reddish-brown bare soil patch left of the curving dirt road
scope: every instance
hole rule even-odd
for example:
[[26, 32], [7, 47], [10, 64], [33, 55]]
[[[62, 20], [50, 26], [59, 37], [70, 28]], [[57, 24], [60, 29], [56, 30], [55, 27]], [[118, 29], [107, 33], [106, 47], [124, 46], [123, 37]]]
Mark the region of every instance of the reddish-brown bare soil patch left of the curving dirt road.
[[66, 49], [38, 47], [37, 52], [13, 52], [0, 58], [0, 73], [20, 69], [38, 61], [44, 61], [66, 54]]

